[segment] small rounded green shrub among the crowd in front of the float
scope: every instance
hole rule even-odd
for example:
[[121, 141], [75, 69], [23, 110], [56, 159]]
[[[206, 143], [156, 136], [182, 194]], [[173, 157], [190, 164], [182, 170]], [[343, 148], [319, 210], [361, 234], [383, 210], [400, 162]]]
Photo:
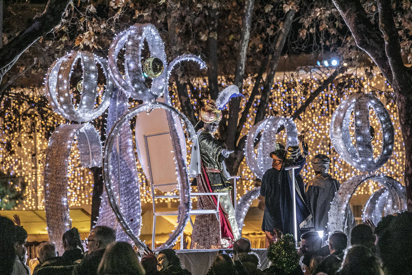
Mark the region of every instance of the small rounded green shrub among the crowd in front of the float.
[[271, 262], [269, 271], [272, 274], [286, 275], [293, 273], [299, 266], [295, 237], [285, 234], [280, 240], [269, 245], [267, 259]]

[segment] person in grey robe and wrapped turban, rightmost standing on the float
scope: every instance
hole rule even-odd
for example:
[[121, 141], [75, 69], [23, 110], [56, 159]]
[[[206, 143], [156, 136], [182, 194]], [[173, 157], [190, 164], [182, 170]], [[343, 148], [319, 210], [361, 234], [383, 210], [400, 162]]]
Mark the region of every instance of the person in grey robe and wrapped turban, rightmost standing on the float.
[[[315, 171], [315, 177], [309, 181], [306, 186], [306, 196], [308, 207], [313, 215], [313, 225], [315, 231], [327, 231], [328, 229], [328, 212], [330, 203], [339, 190], [339, 182], [332, 178], [328, 173], [330, 167], [330, 158], [327, 155], [318, 154], [312, 161], [311, 165]], [[349, 234], [353, 227], [356, 226], [350, 207], [346, 210], [345, 233]]]

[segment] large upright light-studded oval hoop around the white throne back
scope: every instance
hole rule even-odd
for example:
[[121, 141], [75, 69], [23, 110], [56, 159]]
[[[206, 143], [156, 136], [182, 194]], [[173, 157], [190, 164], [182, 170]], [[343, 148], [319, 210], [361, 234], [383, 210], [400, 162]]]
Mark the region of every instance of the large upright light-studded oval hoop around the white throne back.
[[[122, 225], [124, 230], [126, 231], [126, 234], [129, 235], [129, 237], [133, 240], [133, 242], [136, 243], [136, 246], [139, 249], [145, 249], [146, 245], [140, 242], [138, 239], [138, 236], [133, 234], [133, 231], [131, 230], [131, 227], [129, 224], [126, 222], [124, 219], [124, 215], [120, 211], [119, 204], [117, 203], [117, 199], [114, 195], [113, 188], [112, 188], [112, 182], [111, 182], [111, 176], [110, 176], [110, 170], [111, 170], [111, 150], [116, 136], [119, 133], [122, 125], [126, 122], [128, 122], [131, 118], [136, 116], [138, 113], [141, 113], [143, 111], [148, 111], [153, 108], [163, 108], [166, 111], [169, 112], [175, 112], [186, 124], [187, 126], [187, 131], [188, 131], [188, 138], [193, 140], [196, 138], [196, 133], [194, 132], [194, 127], [192, 123], [178, 110], [173, 108], [172, 106], [169, 106], [166, 103], [162, 102], [154, 102], [154, 103], [146, 103], [143, 105], [140, 105], [136, 108], [133, 108], [129, 111], [129, 113], [126, 113], [122, 118], [120, 118], [116, 124], [113, 126], [110, 134], [108, 135], [106, 144], [105, 144], [105, 150], [104, 150], [104, 155], [103, 155], [103, 173], [104, 173], [104, 183], [106, 186], [106, 190], [108, 193], [110, 205], [113, 209], [113, 212], [115, 212], [117, 219], [119, 223]], [[180, 161], [183, 161], [180, 160]], [[186, 167], [186, 163], [184, 164], [184, 167]], [[161, 247], [158, 247], [157, 249], [164, 249], [168, 247], [172, 247], [180, 234], [183, 232], [185, 225], [189, 219], [189, 211], [192, 208], [192, 203], [190, 200], [190, 183], [189, 183], [189, 174], [187, 172], [187, 167], [186, 169], [179, 169], [180, 171], [180, 180], [178, 180], [178, 186], [179, 186], [179, 196], [180, 196], [180, 205], [178, 207], [178, 226], [176, 227], [176, 230], [172, 232], [171, 235], [169, 235], [169, 239], [162, 244]], [[140, 198], [136, 198], [140, 199]]]

